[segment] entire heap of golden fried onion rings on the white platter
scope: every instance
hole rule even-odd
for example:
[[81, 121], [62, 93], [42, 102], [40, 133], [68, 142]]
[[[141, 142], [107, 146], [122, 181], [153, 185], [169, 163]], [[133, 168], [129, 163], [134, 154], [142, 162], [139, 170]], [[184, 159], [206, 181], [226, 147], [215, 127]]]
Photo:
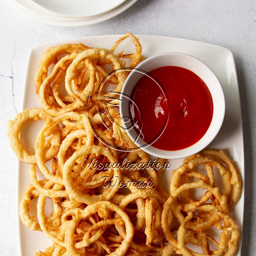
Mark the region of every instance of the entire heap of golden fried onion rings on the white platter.
[[[126, 38], [131, 39], [135, 52], [114, 53]], [[241, 179], [224, 150], [204, 150], [186, 158], [172, 173], [170, 193], [161, 187], [159, 169], [91, 168], [90, 163], [97, 160], [103, 163], [118, 163], [124, 158], [131, 163], [149, 160], [142, 150], [126, 150], [132, 148], [127, 134], [113, 127], [108, 113], [99, 115], [104, 112], [109, 96], [104, 88], [99, 92], [102, 81], [109, 73], [124, 69], [125, 59], [131, 59], [129, 68], [136, 67], [143, 60], [141, 53], [139, 40], [127, 33], [110, 50], [80, 43], [50, 47], [42, 54], [35, 86], [43, 109], [25, 110], [8, 122], [12, 149], [20, 160], [30, 164], [31, 184], [20, 200], [20, 218], [26, 227], [44, 232], [53, 241], [35, 256], [158, 256], [173, 252], [230, 256], [236, 252], [239, 229], [229, 211], [239, 200]], [[120, 93], [127, 75], [128, 72], [117, 72], [109, 77], [114, 92]], [[109, 114], [115, 123], [121, 123], [116, 105], [109, 108]], [[45, 123], [31, 155], [19, 140], [19, 133], [28, 120], [39, 119]], [[107, 129], [104, 123], [112, 129]], [[106, 146], [93, 130], [106, 144], [124, 150]], [[195, 170], [201, 164], [205, 174]], [[214, 168], [222, 176], [223, 192], [215, 186]], [[38, 180], [37, 172], [45, 178]], [[132, 185], [124, 191], [118, 186], [104, 186], [102, 178], [106, 176], [117, 184], [152, 181], [154, 186], [140, 189]], [[198, 181], [190, 182], [191, 179]], [[195, 200], [193, 190], [199, 188], [207, 191]], [[50, 216], [44, 213], [46, 198], [53, 204]], [[29, 210], [32, 200], [37, 200], [37, 220]], [[213, 226], [222, 230], [219, 242], [207, 233]], [[216, 246], [213, 251], [210, 242]], [[203, 254], [191, 251], [187, 243], [200, 246]]]

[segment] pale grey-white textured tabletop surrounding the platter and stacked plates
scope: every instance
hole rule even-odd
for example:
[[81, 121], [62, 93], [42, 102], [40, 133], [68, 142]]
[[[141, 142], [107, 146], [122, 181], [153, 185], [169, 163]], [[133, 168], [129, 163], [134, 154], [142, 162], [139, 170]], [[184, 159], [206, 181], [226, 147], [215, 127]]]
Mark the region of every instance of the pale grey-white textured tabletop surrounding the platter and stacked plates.
[[[245, 218], [242, 255], [256, 255], [256, 2], [255, 0], [139, 0], [106, 22], [79, 28], [37, 22], [0, 2], [0, 255], [18, 255], [16, 156], [6, 138], [6, 121], [20, 111], [30, 48], [61, 39], [100, 34], [168, 35], [229, 48], [236, 60], [245, 139]], [[29, 256], [29, 255], [28, 255]]]

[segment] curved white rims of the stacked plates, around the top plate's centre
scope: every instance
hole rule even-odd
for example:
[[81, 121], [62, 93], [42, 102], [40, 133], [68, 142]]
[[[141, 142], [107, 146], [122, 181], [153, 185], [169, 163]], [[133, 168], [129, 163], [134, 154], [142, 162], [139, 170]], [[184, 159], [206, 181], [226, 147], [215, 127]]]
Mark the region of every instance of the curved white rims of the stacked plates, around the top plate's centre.
[[126, 0], [123, 4], [119, 5], [114, 10], [104, 13], [102, 15], [96, 15], [92, 17], [67, 17], [60, 14], [55, 14], [50, 12], [38, 4], [35, 4], [31, 0], [9, 0], [18, 10], [24, 14], [39, 20], [40, 22], [63, 27], [78, 27], [87, 26], [96, 23], [103, 22], [105, 20], [111, 19], [116, 15], [124, 12], [131, 5], [133, 5], [138, 0]]

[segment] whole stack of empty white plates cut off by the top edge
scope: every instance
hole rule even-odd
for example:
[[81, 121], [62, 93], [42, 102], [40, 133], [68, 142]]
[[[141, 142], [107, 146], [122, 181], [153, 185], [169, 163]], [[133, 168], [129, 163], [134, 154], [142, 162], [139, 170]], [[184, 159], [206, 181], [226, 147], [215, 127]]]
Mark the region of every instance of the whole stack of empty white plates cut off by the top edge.
[[103, 22], [124, 12], [137, 0], [9, 0], [41, 22], [66, 27]]

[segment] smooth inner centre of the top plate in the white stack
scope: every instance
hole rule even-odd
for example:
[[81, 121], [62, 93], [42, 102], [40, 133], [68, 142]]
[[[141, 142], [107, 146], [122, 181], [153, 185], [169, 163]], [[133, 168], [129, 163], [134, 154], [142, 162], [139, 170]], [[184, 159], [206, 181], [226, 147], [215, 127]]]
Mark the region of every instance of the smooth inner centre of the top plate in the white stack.
[[68, 17], [90, 17], [115, 9], [125, 0], [31, 0], [48, 11]]

